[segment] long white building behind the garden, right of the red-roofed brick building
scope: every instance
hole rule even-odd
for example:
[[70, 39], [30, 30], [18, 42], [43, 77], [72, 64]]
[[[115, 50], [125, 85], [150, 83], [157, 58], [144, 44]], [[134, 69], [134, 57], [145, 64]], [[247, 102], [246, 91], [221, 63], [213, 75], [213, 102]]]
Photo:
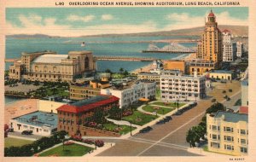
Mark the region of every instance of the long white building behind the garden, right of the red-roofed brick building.
[[102, 89], [103, 95], [114, 95], [119, 97], [119, 105], [128, 107], [140, 99], [152, 99], [155, 97], [155, 82], [148, 80], [137, 80], [128, 83], [121, 83], [109, 89]]

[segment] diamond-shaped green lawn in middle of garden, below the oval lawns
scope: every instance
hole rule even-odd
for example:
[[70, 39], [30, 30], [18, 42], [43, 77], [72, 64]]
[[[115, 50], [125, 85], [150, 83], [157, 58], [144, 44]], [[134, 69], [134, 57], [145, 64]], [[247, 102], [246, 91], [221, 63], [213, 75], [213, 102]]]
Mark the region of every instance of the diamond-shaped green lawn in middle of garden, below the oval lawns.
[[147, 124], [148, 122], [157, 119], [158, 116], [156, 117], [155, 115], [148, 115], [145, 113], [141, 113], [139, 111], [134, 111], [134, 113], [130, 116], [123, 117], [123, 120], [129, 121], [132, 124], [138, 124], [138, 125], [143, 125]]

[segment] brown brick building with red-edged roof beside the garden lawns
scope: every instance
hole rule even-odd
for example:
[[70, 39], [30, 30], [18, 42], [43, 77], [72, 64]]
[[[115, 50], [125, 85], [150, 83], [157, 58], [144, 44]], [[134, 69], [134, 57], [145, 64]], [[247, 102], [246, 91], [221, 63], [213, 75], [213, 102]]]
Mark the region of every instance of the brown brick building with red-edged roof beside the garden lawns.
[[113, 95], [97, 95], [90, 99], [62, 105], [57, 108], [58, 130], [66, 130], [69, 136], [86, 136], [84, 124], [100, 109], [105, 113], [112, 107], [119, 107], [119, 98]]

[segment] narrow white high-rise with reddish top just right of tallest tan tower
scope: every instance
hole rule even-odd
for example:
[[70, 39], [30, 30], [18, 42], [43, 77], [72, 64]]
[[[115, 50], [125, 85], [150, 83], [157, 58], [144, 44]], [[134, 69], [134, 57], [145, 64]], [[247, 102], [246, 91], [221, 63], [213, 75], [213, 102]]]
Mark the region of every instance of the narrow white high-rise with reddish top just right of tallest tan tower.
[[234, 61], [233, 55], [233, 43], [231, 42], [231, 32], [229, 30], [224, 30], [222, 32], [222, 53], [223, 53], [223, 61], [231, 62]]

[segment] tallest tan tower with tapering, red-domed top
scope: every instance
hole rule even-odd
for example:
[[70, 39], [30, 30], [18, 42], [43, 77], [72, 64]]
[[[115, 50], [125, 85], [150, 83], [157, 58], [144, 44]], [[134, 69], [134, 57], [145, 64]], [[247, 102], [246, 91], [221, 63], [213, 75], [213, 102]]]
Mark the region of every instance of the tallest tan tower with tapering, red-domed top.
[[204, 61], [215, 62], [217, 65], [222, 61], [222, 33], [218, 29], [215, 14], [208, 14], [205, 30], [198, 44], [197, 58]]

